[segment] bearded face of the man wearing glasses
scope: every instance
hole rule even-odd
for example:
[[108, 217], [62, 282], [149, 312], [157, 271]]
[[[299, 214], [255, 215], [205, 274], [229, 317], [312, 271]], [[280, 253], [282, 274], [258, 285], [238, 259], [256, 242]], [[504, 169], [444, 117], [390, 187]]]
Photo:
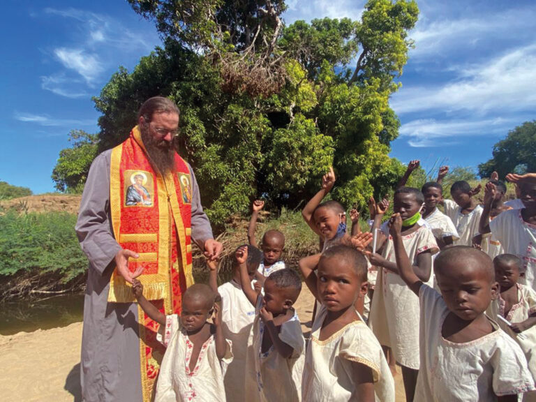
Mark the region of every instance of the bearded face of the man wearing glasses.
[[140, 117], [142, 141], [151, 165], [162, 174], [174, 170], [174, 137], [179, 130], [179, 114], [154, 113], [151, 121]]

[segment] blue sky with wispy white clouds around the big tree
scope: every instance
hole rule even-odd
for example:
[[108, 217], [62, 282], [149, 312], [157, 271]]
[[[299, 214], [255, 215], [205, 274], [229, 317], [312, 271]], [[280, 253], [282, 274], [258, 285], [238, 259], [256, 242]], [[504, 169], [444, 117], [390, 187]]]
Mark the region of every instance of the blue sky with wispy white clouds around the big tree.
[[[359, 19], [364, 1], [291, 0], [285, 22]], [[476, 167], [493, 144], [536, 119], [533, 1], [417, 1], [415, 49], [392, 96], [400, 136], [392, 156]], [[123, 0], [7, 0], [0, 16], [0, 180], [34, 193], [68, 133], [96, 133], [91, 96], [119, 66], [128, 70], [161, 43], [151, 22]]]

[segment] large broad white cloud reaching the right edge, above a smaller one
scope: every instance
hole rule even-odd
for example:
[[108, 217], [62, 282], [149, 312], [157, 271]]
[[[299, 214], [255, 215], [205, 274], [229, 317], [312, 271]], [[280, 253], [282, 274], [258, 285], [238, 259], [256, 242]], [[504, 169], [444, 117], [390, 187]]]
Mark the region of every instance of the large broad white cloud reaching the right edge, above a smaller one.
[[455, 80], [441, 86], [402, 88], [392, 97], [397, 114], [415, 112], [515, 112], [536, 108], [536, 44], [496, 59], [456, 67]]

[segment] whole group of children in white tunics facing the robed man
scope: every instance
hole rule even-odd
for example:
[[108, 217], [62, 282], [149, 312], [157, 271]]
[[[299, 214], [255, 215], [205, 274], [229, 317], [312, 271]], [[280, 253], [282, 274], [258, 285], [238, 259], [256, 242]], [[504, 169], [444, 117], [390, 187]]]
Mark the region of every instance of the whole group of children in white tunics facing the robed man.
[[304, 207], [321, 251], [299, 261], [317, 300], [307, 345], [293, 308], [302, 278], [281, 258], [285, 237], [268, 230], [257, 248], [262, 201], [231, 281], [218, 287], [207, 262], [209, 284], [186, 290], [180, 317], [160, 313], [135, 280], [167, 345], [155, 400], [393, 402], [396, 362], [406, 401], [536, 401], [536, 174], [507, 176], [516, 209], [496, 175], [483, 206], [465, 181], [442, 198], [447, 167], [421, 190], [406, 187], [418, 165], [387, 221], [389, 200], [369, 202], [371, 230], [352, 210], [349, 233], [345, 208], [322, 202], [333, 170]]

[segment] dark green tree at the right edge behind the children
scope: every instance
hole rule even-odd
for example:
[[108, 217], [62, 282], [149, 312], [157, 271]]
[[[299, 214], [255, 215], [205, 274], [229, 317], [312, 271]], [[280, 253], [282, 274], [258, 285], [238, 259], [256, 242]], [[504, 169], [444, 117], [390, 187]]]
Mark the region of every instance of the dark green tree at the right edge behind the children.
[[526, 121], [493, 145], [493, 158], [478, 165], [480, 177], [499, 177], [512, 172], [536, 172], [536, 120]]

